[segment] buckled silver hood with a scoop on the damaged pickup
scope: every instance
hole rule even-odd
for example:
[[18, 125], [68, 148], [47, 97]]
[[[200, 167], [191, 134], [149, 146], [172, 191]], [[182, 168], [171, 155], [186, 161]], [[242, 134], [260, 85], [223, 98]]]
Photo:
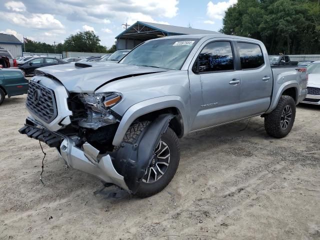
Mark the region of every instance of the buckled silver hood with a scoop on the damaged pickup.
[[90, 67], [78, 67], [75, 63], [40, 67], [38, 70], [57, 78], [69, 92], [93, 92], [107, 82], [131, 77], [166, 71], [166, 69], [125, 65], [119, 63], [80, 62]]

